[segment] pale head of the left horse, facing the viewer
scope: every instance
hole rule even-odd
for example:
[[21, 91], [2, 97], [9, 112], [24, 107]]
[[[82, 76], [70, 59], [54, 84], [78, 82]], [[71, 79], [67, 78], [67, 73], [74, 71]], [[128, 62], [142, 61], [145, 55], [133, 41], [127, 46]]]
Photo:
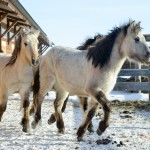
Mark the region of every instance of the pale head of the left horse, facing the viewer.
[[40, 31], [23, 28], [21, 30], [22, 36], [22, 48], [27, 56], [27, 59], [36, 66], [39, 64], [39, 54], [38, 54], [38, 36]]

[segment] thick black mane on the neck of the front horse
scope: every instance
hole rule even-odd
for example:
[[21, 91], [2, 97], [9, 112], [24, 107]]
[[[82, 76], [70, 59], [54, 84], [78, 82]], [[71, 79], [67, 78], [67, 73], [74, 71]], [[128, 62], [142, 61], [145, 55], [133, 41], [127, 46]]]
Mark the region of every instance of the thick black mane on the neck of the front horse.
[[105, 64], [110, 60], [112, 48], [117, 36], [123, 31], [124, 35], [127, 34], [127, 29], [130, 26], [128, 24], [122, 25], [121, 27], [114, 27], [108, 35], [106, 35], [101, 41], [99, 41], [95, 47], [88, 50], [87, 59], [92, 59], [94, 67], [99, 66], [103, 68]]

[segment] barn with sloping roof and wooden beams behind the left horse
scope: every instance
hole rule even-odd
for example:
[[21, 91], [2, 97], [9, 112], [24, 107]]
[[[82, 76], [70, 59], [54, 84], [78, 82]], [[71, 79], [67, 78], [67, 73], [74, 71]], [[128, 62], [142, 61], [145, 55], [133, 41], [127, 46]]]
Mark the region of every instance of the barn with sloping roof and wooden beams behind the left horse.
[[0, 51], [12, 53], [15, 37], [21, 26], [33, 27], [40, 30], [39, 53], [49, 47], [46, 33], [35, 22], [18, 0], [0, 0]]

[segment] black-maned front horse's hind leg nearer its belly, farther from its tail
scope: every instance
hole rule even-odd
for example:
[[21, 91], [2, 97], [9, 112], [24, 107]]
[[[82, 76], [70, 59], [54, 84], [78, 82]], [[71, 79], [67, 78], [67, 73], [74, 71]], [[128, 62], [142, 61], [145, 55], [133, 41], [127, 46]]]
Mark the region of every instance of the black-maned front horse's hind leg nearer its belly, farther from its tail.
[[54, 101], [56, 125], [59, 133], [64, 133], [65, 130], [62, 117], [62, 106], [67, 96], [68, 92], [59, 91], [56, 93], [56, 99]]

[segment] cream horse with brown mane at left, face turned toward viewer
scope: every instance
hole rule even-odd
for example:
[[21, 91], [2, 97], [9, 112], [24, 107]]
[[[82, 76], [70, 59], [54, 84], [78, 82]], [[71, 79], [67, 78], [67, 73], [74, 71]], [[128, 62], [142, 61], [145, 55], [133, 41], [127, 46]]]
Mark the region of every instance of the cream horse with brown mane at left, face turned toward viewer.
[[29, 129], [29, 95], [33, 85], [34, 70], [39, 65], [38, 30], [21, 28], [13, 53], [0, 54], [0, 121], [7, 107], [8, 96], [19, 93], [20, 108], [24, 109], [22, 130]]

